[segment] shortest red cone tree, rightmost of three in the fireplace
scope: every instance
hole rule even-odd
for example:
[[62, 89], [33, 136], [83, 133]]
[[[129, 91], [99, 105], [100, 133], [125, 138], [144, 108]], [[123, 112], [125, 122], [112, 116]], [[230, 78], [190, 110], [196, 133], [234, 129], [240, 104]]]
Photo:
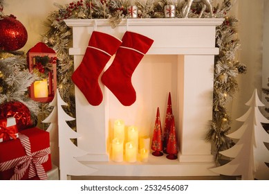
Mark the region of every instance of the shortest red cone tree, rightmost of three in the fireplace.
[[176, 127], [175, 127], [175, 119], [172, 116], [171, 119], [171, 129], [168, 136], [167, 141], [167, 159], [177, 159], [176, 156], [178, 154], [178, 141], [176, 140]]

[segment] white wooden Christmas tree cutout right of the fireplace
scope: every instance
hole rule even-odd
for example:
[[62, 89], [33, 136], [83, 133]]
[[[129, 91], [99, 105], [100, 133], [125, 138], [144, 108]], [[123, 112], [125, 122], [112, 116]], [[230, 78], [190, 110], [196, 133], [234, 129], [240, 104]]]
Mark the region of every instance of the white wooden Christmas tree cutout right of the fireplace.
[[234, 158], [228, 164], [211, 168], [210, 170], [221, 175], [239, 176], [241, 179], [269, 179], [269, 150], [264, 143], [269, 143], [269, 134], [263, 129], [261, 123], [269, 123], [259, 111], [264, 106], [259, 100], [257, 89], [252, 97], [245, 103], [250, 108], [236, 121], [244, 122], [238, 130], [229, 134], [232, 139], [239, 141], [230, 149], [220, 152], [221, 155]]

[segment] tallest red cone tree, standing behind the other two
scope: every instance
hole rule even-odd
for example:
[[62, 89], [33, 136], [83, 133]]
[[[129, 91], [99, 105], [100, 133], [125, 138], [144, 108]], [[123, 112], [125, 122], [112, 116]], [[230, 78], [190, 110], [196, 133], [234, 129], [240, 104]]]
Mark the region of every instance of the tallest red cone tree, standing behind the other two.
[[171, 105], [171, 93], [169, 92], [166, 116], [165, 116], [165, 130], [163, 134], [163, 152], [165, 152], [166, 154], [167, 154], [167, 142], [169, 138], [172, 117], [173, 117], [173, 112], [172, 112], [172, 105]]

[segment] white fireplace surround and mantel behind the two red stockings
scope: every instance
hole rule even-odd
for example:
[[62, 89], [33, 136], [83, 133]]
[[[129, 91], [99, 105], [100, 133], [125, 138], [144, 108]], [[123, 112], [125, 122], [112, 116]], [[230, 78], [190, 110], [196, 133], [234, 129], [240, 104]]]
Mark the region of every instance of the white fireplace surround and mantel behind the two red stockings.
[[[82, 61], [93, 30], [120, 39], [129, 30], [154, 39], [133, 73], [137, 100], [130, 107], [121, 105], [102, 82], [104, 100], [96, 107], [89, 105], [75, 87], [77, 132], [82, 135], [77, 145], [89, 152], [79, 160], [98, 169], [92, 175], [216, 175], [209, 170], [214, 167], [214, 157], [205, 134], [212, 119], [214, 55], [219, 53], [215, 47], [216, 26], [222, 24], [223, 19], [124, 19], [116, 28], [111, 28], [108, 19], [68, 19], [65, 22], [73, 28], [73, 48], [69, 53], [74, 55], [75, 69]], [[113, 58], [106, 68], [112, 61]], [[113, 121], [122, 118], [126, 125], [138, 126], [140, 135], [151, 136], [156, 108], [160, 107], [164, 118], [169, 91], [176, 119], [178, 159], [171, 161], [165, 156], [150, 155], [147, 163], [111, 161]], [[165, 170], [156, 170], [161, 168]]]

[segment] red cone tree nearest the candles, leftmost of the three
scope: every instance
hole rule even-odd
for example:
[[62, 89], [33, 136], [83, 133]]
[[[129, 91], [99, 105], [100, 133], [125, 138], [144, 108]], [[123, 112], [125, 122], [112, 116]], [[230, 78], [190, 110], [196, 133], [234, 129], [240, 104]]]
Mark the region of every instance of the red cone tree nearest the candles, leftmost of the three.
[[152, 137], [152, 143], [151, 143], [151, 150], [154, 150], [152, 152], [152, 155], [156, 157], [163, 156], [163, 131], [162, 131], [162, 125], [160, 123], [160, 111], [159, 107], [157, 109], [156, 114], [156, 120], [154, 125], [154, 134]]

